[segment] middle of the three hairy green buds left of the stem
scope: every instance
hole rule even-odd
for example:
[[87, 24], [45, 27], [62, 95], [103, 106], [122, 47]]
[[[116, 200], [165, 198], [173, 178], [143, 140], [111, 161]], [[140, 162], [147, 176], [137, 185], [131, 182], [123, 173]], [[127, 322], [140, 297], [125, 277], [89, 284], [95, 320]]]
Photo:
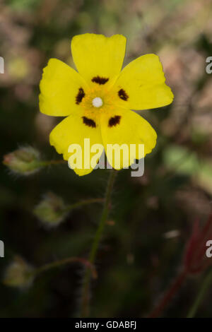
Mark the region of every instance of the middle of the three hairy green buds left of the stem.
[[68, 213], [64, 201], [57, 195], [49, 192], [35, 207], [34, 214], [47, 227], [59, 225]]

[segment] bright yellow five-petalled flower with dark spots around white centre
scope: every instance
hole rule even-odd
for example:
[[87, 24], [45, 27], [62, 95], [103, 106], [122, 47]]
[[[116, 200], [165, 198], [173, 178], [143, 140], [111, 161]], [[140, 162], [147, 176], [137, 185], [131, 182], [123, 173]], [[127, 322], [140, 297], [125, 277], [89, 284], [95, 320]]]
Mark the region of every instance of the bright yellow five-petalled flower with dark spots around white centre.
[[[155, 130], [131, 109], [169, 105], [173, 94], [155, 54], [143, 55], [122, 69], [125, 46], [122, 35], [77, 35], [71, 41], [71, 52], [78, 72], [58, 59], [50, 59], [45, 67], [40, 82], [40, 111], [66, 117], [49, 138], [64, 160], [71, 156], [71, 144], [83, 149], [84, 138], [90, 138], [90, 146], [101, 144], [102, 151], [106, 151], [107, 144], [143, 144], [146, 155], [155, 147]], [[95, 155], [88, 153], [90, 159]], [[84, 158], [83, 151], [83, 165]], [[114, 167], [112, 156], [107, 155], [107, 159]], [[138, 159], [137, 149], [134, 159]], [[131, 163], [131, 158], [122, 160], [119, 168]], [[92, 170], [91, 166], [74, 169], [78, 175]]]

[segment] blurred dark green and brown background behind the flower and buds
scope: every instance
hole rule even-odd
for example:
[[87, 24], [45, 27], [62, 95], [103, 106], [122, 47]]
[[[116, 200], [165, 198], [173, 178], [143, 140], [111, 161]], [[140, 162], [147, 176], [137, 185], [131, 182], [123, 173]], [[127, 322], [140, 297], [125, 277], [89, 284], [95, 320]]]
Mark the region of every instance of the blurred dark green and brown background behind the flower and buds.
[[[92, 288], [95, 317], [148, 315], [182, 265], [195, 220], [204, 224], [212, 196], [212, 56], [210, 0], [6, 0], [0, 3], [1, 159], [29, 144], [44, 160], [61, 160], [49, 146], [49, 132], [61, 119], [40, 114], [39, 82], [51, 57], [73, 65], [73, 35], [95, 32], [127, 37], [124, 64], [146, 53], [160, 56], [175, 94], [168, 107], [143, 111], [158, 132], [143, 177], [130, 170], [117, 176], [110, 220], [98, 254]], [[0, 239], [5, 258], [16, 255], [38, 267], [64, 257], [86, 257], [101, 204], [73, 210], [47, 229], [33, 210], [47, 191], [66, 203], [104, 196], [108, 171], [78, 177], [66, 164], [18, 177], [1, 163]], [[212, 262], [212, 261], [211, 261]], [[76, 316], [84, 268], [73, 263], [39, 275], [28, 289], [0, 284], [1, 317]], [[163, 312], [185, 317], [207, 271], [188, 278]], [[212, 285], [212, 282], [211, 282]], [[212, 316], [208, 289], [197, 316]]]

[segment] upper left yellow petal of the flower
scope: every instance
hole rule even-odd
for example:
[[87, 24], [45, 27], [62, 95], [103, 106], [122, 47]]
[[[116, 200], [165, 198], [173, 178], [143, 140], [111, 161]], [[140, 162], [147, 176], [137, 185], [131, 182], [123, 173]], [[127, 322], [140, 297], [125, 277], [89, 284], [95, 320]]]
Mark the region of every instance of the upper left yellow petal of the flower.
[[40, 112], [56, 117], [78, 112], [76, 96], [80, 88], [86, 90], [86, 83], [75, 70], [58, 59], [50, 59], [40, 81]]

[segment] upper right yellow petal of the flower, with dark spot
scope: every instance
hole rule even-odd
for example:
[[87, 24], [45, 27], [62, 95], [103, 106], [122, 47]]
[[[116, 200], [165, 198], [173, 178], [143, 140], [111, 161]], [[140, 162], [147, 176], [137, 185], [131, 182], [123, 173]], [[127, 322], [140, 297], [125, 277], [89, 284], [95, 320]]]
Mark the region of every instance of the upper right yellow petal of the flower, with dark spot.
[[165, 84], [160, 60], [146, 54], [131, 61], [120, 73], [114, 87], [115, 103], [128, 109], [151, 109], [169, 105], [172, 90]]

